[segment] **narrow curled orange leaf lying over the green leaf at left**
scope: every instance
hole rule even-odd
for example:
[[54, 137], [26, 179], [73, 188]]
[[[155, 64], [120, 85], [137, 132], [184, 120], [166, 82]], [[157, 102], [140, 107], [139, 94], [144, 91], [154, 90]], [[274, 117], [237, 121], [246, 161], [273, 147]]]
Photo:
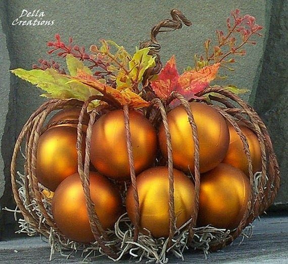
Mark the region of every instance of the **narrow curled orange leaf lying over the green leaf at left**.
[[108, 99], [116, 101], [119, 105], [128, 104], [131, 108], [141, 108], [148, 107], [150, 104], [130, 89], [127, 88], [122, 91], [118, 91], [113, 87], [99, 81], [98, 79], [95, 79], [93, 76], [88, 75], [82, 70], [78, 70], [77, 76], [68, 76], [68, 78], [101, 92]]

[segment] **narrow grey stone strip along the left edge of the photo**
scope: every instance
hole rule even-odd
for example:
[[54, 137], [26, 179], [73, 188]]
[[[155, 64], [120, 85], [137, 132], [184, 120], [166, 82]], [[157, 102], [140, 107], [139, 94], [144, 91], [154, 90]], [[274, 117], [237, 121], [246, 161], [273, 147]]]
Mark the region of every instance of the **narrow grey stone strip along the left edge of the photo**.
[[9, 73], [11, 54], [8, 50], [9, 37], [7, 37], [6, 11], [6, 6], [3, 2], [0, 2], [0, 231], [2, 231], [4, 223], [12, 222], [13, 219], [13, 216], [6, 214], [2, 208], [14, 206], [10, 183], [10, 160], [15, 142], [16, 107], [15, 88], [11, 83]]

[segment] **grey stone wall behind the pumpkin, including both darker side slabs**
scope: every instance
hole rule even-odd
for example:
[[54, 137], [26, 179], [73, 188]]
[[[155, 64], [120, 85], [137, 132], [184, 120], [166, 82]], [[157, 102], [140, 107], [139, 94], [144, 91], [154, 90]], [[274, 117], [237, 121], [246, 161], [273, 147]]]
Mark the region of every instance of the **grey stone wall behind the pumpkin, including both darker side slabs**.
[[[239, 8], [264, 26], [263, 38], [247, 46], [247, 56], [238, 58], [235, 72], [227, 84], [251, 90], [244, 95], [264, 118], [271, 133], [281, 166], [282, 186], [276, 203], [285, 207], [287, 196], [287, 2], [284, 0], [193, 0], [193, 1], [64, 1], [0, 0], [0, 206], [12, 206], [10, 159], [16, 136], [30, 114], [43, 101], [37, 88], [10, 75], [9, 69], [30, 69], [39, 58], [47, 58], [45, 43], [60, 33], [64, 40], [73, 36], [75, 43], [87, 48], [100, 38], [113, 39], [133, 52], [139, 41], [149, 38], [150, 29], [170, 18], [178, 8], [193, 22], [191, 27], [162, 33], [161, 58], [165, 63], [176, 55], [178, 69], [193, 65], [194, 54], [203, 51], [207, 38], [215, 39], [215, 30], [224, 29], [230, 11]], [[40, 10], [42, 20], [55, 20], [53, 26], [13, 26], [22, 10]], [[29, 20], [28, 18], [24, 18]], [[264, 58], [264, 59], [263, 59]], [[277, 207], [279, 208], [279, 207]], [[287, 207], [285, 207], [287, 208]], [[13, 223], [12, 214], [1, 212], [1, 226]]]

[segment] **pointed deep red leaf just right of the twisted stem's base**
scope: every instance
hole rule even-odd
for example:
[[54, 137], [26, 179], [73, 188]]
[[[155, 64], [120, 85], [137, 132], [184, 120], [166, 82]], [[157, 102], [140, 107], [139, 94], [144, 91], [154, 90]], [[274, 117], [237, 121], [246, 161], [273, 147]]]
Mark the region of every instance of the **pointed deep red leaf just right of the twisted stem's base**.
[[165, 99], [172, 91], [175, 91], [178, 78], [175, 57], [172, 56], [161, 70], [158, 78], [151, 82], [151, 87], [159, 98]]

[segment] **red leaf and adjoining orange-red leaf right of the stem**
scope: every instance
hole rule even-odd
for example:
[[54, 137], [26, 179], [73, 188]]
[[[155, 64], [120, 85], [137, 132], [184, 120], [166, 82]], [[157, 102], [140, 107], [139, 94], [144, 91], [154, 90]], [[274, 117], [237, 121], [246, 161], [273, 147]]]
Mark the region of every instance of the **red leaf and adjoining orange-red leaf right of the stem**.
[[204, 90], [215, 79], [220, 64], [213, 64], [200, 71], [190, 70], [179, 76], [175, 57], [167, 62], [158, 79], [151, 82], [152, 89], [159, 98], [166, 99], [172, 91], [182, 94], [187, 100], [196, 98], [196, 93]]

